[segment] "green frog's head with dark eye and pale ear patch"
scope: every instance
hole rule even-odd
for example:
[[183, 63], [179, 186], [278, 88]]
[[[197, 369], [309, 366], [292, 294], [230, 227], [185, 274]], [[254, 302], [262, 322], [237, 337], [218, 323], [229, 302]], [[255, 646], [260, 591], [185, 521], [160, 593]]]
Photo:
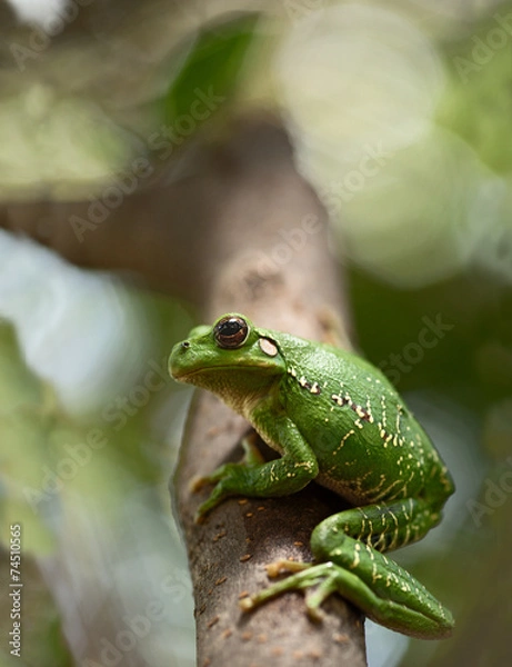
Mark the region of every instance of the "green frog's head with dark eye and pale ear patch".
[[230, 396], [269, 388], [285, 372], [285, 364], [270, 331], [258, 330], [243, 315], [228, 313], [212, 327], [195, 327], [187, 340], [178, 342], [169, 371], [175, 380], [203, 387], [229, 401]]

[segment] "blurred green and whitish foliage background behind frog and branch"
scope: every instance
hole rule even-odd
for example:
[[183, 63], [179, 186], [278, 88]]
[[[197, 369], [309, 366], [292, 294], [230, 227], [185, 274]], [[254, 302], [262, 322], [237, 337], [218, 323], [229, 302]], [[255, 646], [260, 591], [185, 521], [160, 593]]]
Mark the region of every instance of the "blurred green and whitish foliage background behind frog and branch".
[[[329, 211], [358, 345], [458, 487], [396, 555], [454, 637], [368, 624], [369, 664], [510, 664], [512, 3], [12, 0], [0, 19], [2, 206], [101, 216], [120, 173], [172, 185], [233, 119], [280, 116]], [[193, 665], [168, 492], [190, 394], [167, 376], [193, 305], [0, 231], [0, 318], [1, 579], [20, 524], [22, 663]]]

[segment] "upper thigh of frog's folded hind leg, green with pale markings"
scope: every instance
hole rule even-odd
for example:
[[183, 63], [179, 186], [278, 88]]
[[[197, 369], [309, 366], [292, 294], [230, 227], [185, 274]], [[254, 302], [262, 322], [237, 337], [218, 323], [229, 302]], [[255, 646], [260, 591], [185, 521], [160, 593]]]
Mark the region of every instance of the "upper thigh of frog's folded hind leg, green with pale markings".
[[311, 546], [319, 560], [330, 557], [340, 534], [370, 541], [379, 551], [396, 549], [421, 539], [439, 519], [439, 512], [421, 498], [365, 505], [324, 519], [314, 529]]

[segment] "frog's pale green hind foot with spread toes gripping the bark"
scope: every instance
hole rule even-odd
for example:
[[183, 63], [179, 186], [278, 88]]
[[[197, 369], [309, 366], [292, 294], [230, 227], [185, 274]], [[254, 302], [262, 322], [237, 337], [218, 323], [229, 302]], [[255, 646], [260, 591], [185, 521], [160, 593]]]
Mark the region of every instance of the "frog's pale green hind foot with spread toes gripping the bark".
[[254, 595], [240, 600], [240, 607], [243, 611], [250, 611], [262, 605], [267, 600], [287, 593], [289, 590], [301, 590], [313, 588], [308, 591], [305, 597], [305, 607], [308, 616], [314, 620], [322, 620], [320, 606], [327, 597], [338, 590], [338, 575], [335, 566], [332, 563], [297, 563], [294, 560], [278, 560], [267, 566], [269, 577], [278, 577], [283, 571], [293, 573], [291, 577], [282, 579], [264, 588]]

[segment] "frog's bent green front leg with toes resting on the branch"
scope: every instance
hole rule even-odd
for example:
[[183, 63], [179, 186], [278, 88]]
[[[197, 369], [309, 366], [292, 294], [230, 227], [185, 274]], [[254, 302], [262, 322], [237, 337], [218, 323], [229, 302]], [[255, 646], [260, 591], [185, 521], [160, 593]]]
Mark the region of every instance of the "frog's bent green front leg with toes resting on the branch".
[[194, 490], [208, 482], [215, 484], [208, 500], [199, 507], [197, 521], [202, 520], [205, 514], [229, 496], [288, 496], [317, 477], [317, 458], [288, 417], [262, 417], [260, 420], [255, 415], [254, 425], [270, 446], [277, 447], [279, 444], [283, 456], [264, 462], [245, 439], [245, 456], [241, 462], [225, 464], [194, 482]]

